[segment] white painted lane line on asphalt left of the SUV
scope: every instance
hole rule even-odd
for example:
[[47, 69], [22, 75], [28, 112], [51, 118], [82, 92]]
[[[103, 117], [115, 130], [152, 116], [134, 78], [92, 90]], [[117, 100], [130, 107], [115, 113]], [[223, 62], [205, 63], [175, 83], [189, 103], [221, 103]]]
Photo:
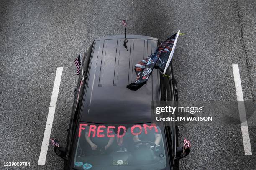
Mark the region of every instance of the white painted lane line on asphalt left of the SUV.
[[57, 103], [58, 94], [59, 94], [59, 86], [61, 82], [62, 70], [63, 70], [63, 67], [58, 67], [56, 71], [54, 87], [51, 93], [51, 102], [50, 102], [48, 117], [47, 117], [46, 126], [44, 130], [44, 138], [43, 138], [41, 152], [40, 152], [37, 165], [44, 165], [46, 161], [49, 139], [51, 137], [51, 128], [54, 120], [54, 113], [55, 113], [56, 103]]

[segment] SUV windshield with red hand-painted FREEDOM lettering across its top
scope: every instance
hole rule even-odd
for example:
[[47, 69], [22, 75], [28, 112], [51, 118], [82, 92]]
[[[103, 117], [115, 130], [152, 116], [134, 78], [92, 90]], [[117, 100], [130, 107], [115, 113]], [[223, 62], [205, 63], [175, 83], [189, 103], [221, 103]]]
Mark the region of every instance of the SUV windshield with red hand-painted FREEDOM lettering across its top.
[[161, 170], [166, 167], [164, 128], [159, 124], [80, 123], [77, 170]]

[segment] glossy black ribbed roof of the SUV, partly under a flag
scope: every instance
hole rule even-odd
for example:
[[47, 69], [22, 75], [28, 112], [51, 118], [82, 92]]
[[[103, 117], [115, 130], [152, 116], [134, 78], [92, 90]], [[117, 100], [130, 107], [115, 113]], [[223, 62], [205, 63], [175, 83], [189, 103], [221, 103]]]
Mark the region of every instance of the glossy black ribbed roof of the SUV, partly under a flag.
[[147, 83], [137, 91], [126, 85], [136, 79], [134, 66], [154, 53], [157, 39], [127, 35], [98, 38], [92, 50], [87, 87], [80, 121], [100, 124], [151, 122], [151, 101], [159, 99], [159, 71], [154, 69]]

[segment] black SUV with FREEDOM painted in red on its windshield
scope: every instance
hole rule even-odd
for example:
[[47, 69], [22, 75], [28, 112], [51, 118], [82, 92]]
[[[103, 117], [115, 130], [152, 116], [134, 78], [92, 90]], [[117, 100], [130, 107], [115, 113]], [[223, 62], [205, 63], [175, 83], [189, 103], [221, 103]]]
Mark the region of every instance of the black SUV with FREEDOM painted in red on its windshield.
[[83, 59], [74, 93], [67, 146], [55, 147], [64, 159], [64, 170], [171, 170], [189, 154], [178, 147], [175, 123], [152, 122], [151, 101], [177, 101], [172, 63], [163, 76], [154, 69], [137, 91], [134, 66], [154, 53], [156, 38], [124, 35], [96, 39]]

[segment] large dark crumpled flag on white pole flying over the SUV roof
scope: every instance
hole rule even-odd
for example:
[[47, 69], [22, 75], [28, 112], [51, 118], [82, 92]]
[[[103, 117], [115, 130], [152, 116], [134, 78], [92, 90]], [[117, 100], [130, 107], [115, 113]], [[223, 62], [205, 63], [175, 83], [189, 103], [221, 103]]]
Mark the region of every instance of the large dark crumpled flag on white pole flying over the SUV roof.
[[141, 88], [148, 81], [148, 78], [151, 75], [153, 69], [160, 69], [165, 74], [165, 67], [166, 64], [169, 65], [170, 60], [172, 59], [172, 55], [170, 54], [172, 48], [175, 47], [178, 34], [179, 32], [169, 37], [166, 41], [159, 45], [159, 47], [153, 54], [151, 54], [150, 56], [148, 56], [147, 58], [145, 58], [144, 60], [140, 61], [138, 64], [135, 65], [134, 70], [136, 72], [137, 77], [134, 83], [131, 83], [126, 86], [128, 89], [138, 90], [139, 88]]

